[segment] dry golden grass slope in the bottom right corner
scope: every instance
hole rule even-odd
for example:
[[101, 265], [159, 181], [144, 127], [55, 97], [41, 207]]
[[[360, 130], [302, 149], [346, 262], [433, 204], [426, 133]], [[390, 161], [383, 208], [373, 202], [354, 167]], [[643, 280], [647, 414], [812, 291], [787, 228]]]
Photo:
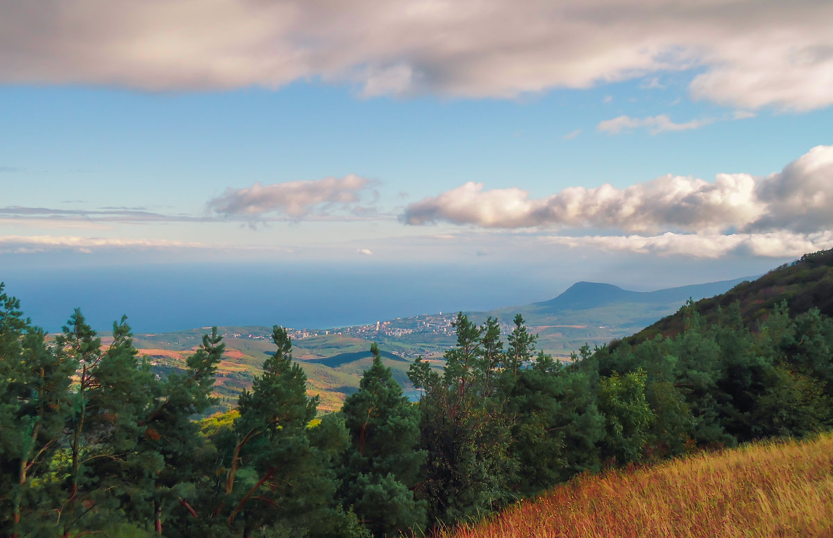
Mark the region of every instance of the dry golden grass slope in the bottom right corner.
[[442, 536], [833, 536], [833, 435], [581, 476]]

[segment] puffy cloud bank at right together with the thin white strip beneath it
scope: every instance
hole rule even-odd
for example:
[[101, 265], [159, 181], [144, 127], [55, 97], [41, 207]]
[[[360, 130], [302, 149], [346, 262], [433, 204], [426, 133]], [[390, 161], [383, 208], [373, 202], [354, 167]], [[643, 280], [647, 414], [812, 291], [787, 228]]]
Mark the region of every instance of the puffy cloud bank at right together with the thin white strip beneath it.
[[624, 189], [569, 187], [537, 200], [517, 187], [484, 190], [470, 181], [407, 205], [401, 219], [408, 225], [447, 223], [529, 234], [572, 230], [542, 236], [571, 248], [786, 257], [833, 248], [831, 205], [833, 146], [816, 146], [766, 176], [718, 174], [708, 182], [663, 175]]

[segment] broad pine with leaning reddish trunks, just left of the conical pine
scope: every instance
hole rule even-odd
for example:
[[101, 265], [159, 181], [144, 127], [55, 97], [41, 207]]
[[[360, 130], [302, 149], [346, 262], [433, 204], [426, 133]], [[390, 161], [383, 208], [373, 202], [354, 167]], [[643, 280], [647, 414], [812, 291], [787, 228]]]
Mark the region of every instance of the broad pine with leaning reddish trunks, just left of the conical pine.
[[211, 500], [210, 524], [244, 537], [259, 528], [329, 536], [350, 524], [333, 501], [332, 461], [341, 456], [347, 432], [336, 417], [309, 427], [318, 397], [307, 396], [307, 376], [292, 362], [287, 330], [276, 325], [272, 339], [277, 351], [252, 390], [242, 392], [232, 431], [217, 439], [225, 473]]

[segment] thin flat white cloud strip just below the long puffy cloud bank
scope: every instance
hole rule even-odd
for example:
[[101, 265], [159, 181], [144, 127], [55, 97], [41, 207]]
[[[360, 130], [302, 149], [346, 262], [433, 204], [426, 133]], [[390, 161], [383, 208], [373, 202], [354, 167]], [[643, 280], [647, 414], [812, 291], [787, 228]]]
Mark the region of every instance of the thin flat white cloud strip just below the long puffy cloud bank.
[[767, 234], [674, 234], [661, 235], [592, 235], [584, 237], [547, 236], [548, 244], [571, 248], [601, 249], [609, 252], [633, 252], [659, 256], [690, 256], [717, 259], [727, 254], [766, 258], [798, 257], [807, 252], [833, 248], [833, 232], [796, 234], [789, 231]]

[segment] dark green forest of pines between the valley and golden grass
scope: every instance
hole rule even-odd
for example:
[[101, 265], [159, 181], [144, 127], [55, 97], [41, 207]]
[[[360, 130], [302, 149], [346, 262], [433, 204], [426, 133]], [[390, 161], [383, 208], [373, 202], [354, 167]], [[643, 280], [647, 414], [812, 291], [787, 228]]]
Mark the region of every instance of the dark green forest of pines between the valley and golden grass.
[[799, 284], [831, 258], [763, 277], [792, 279], [768, 304], [690, 301], [568, 362], [520, 314], [507, 335], [459, 314], [442, 371], [412, 364], [418, 402], [373, 344], [359, 390], [320, 417], [280, 326], [237, 408], [205, 417], [216, 329], [160, 378], [127, 318], [106, 347], [78, 310], [47, 337], [0, 285], [0, 535], [423, 536], [582, 473], [812, 437], [833, 426], [833, 318]]

